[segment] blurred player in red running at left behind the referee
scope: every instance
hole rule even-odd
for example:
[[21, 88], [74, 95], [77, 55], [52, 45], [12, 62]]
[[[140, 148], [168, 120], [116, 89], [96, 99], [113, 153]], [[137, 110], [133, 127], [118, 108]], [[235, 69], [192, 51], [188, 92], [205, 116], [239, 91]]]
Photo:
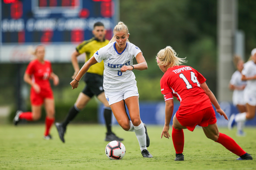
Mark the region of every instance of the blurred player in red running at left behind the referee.
[[46, 118], [43, 138], [49, 140], [51, 139], [49, 130], [55, 120], [54, 98], [49, 79], [52, 79], [53, 84], [56, 86], [58, 85], [58, 76], [52, 72], [50, 62], [44, 60], [45, 48], [43, 45], [36, 46], [35, 51], [32, 53], [36, 58], [28, 64], [24, 74], [24, 81], [31, 85], [30, 101], [32, 112], [17, 111], [13, 124], [17, 125], [21, 119], [27, 121], [40, 119], [41, 106], [44, 104]]

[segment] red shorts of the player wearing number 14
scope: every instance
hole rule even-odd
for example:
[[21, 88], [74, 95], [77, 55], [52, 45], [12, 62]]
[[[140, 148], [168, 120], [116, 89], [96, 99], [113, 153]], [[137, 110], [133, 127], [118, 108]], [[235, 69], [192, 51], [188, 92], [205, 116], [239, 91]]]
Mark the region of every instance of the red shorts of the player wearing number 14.
[[192, 132], [196, 125], [207, 127], [208, 125], [212, 125], [217, 122], [215, 112], [212, 107], [208, 107], [187, 116], [180, 116], [177, 111], [176, 118], [182, 126]]

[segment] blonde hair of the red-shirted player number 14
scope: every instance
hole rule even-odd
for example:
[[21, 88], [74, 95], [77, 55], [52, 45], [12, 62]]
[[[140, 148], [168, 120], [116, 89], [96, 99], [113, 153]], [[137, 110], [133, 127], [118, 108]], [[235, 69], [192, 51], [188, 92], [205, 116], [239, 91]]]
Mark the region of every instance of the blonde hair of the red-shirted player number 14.
[[166, 69], [186, 62], [185, 58], [177, 57], [177, 53], [170, 46], [161, 49], [156, 55], [156, 60], [157, 65], [165, 66]]

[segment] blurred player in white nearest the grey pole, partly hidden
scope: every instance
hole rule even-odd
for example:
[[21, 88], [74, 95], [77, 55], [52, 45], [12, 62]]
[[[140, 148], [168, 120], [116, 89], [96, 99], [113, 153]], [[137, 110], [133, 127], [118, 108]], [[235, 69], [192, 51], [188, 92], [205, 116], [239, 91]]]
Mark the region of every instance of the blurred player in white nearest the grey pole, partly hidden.
[[[233, 73], [229, 82], [229, 89], [233, 90], [232, 102], [233, 105], [238, 109], [239, 113], [246, 112], [245, 102], [243, 99], [243, 89], [246, 86], [246, 81], [241, 80], [241, 72], [243, 69], [243, 60], [235, 55], [233, 58], [236, 71]], [[244, 136], [243, 132], [244, 122], [237, 122], [237, 136]]]

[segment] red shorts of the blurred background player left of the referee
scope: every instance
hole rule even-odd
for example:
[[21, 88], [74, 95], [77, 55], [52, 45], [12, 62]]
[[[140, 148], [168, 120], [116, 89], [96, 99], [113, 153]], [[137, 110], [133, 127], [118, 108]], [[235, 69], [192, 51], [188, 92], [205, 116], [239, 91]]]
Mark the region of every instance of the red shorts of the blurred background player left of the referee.
[[30, 91], [30, 102], [33, 106], [40, 106], [43, 104], [44, 99], [53, 99], [53, 93], [51, 89], [42, 89], [39, 93], [35, 93], [34, 89]]

